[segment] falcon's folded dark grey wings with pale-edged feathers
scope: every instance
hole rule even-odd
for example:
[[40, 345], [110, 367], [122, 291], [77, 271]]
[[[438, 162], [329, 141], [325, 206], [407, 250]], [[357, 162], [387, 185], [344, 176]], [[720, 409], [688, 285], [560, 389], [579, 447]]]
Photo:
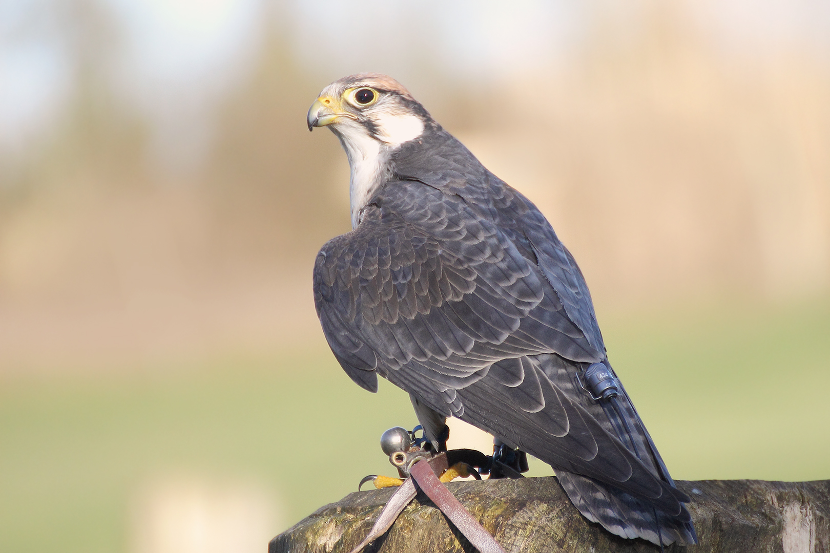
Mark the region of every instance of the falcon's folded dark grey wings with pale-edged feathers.
[[593, 308], [567, 250], [549, 250], [543, 227], [523, 225], [530, 247], [457, 196], [390, 184], [315, 264], [315, 304], [335, 356], [361, 386], [376, 387], [369, 375], [379, 372], [440, 415], [681, 513], [682, 494], [596, 406], [574, 399], [570, 381], [557, 381], [557, 363], [573, 375], [602, 361], [602, 337], [591, 332]]

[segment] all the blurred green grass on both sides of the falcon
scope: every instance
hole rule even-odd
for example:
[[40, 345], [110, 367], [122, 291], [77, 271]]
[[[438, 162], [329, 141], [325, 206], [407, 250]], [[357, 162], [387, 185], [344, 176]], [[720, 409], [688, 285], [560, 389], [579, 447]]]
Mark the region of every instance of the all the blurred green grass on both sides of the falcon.
[[[675, 478], [830, 478], [830, 303], [603, 323]], [[392, 473], [378, 438], [417, 424], [407, 396], [385, 381], [369, 394], [323, 344], [307, 349], [119, 376], [4, 376], [0, 551], [126, 551], [131, 497], [159, 474], [271, 488], [285, 514], [276, 534], [365, 474]], [[550, 473], [539, 465], [533, 474]]]

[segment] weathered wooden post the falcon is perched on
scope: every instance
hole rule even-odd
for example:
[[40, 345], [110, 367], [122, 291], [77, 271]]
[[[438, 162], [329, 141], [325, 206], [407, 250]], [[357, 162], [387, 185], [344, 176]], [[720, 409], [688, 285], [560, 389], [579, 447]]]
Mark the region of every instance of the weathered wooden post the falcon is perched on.
[[[688, 553], [830, 553], [830, 480], [677, 482], [700, 543]], [[659, 551], [613, 536], [582, 517], [555, 477], [456, 482], [449, 488], [505, 551], [633, 553]], [[354, 492], [321, 507], [271, 541], [269, 553], [349, 551], [369, 533], [392, 489]], [[367, 553], [476, 551], [421, 493]]]

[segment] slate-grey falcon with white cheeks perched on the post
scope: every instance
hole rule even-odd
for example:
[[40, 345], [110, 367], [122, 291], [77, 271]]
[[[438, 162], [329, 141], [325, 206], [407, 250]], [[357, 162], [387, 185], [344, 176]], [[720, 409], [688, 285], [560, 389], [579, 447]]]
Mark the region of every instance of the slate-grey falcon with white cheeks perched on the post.
[[386, 75], [334, 81], [308, 126], [331, 129], [351, 169], [352, 230], [314, 267], [320, 324], [349, 377], [406, 390], [439, 450], [457, 417], [549, 463], [579, 512], [618, 536], [696, 543], [690, 499], [541, 211]]

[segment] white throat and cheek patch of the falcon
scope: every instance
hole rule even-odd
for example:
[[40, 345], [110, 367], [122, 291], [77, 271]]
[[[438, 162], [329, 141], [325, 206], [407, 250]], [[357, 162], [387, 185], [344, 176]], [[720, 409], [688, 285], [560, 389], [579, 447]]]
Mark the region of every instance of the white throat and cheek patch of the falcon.
[[415, 115], [380, 114], [375, 123], [378, 125], [379, 140], [353, 121], [344, 121], [337, 129], [351, 169], [349, 201], [353, 229], [360, 224], [363, 209], [378, 186], [391, 177], [390, 154], [402, 143], [417, 138], [423, 132], [423, 123]]

